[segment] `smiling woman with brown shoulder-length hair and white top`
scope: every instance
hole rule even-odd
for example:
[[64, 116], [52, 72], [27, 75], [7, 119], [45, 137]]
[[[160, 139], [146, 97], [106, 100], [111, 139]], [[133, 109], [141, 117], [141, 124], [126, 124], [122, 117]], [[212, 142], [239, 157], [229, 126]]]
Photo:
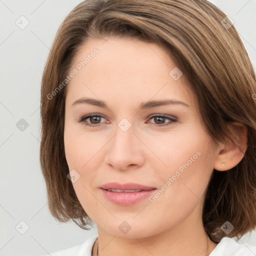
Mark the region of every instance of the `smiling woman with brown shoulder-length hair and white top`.
[[41, 84], [51, 214], [98, 235], [51, 255], [255, 255], [255, 73], [206, 0], [86, 0]]

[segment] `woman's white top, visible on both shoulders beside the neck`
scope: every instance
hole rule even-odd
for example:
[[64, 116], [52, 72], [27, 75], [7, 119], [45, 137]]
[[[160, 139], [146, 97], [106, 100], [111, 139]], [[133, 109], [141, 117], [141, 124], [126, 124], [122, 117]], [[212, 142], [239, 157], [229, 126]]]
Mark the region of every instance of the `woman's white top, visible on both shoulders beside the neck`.
[[[51, 256], [91, 256], [91, 249], [97, 239], [97, 235], [89, 238], [80, 245], [51, 253]], [[50, 256], [49, 254], [44, 256]], [[209, 256], [255, 256], [256, 246], [240, 244], [229, 237], [223, 237]]]

